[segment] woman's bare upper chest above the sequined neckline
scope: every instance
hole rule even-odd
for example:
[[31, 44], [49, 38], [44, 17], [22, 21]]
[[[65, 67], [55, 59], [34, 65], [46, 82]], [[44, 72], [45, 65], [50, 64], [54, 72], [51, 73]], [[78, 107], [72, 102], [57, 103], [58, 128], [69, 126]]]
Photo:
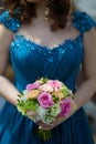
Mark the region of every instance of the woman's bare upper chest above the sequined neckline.
[[74, 27], [51, 31], [50, 24], [36, 22], [35, 24], [21, 25], [18, 31], [36, 44], [49, 47], [50, 49], [71, 39], [74, 40], [79, 35], [79, 31]]

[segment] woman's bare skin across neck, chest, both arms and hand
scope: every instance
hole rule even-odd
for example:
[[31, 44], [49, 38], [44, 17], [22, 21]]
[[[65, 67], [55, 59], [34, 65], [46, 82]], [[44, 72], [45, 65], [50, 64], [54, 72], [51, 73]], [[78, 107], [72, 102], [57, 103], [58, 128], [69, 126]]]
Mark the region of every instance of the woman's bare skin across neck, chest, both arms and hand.
[[[47, 45], [54, 49], [55, 45], [64, 42], [66, 39], [75, 39], [79, 31], [73, 27], [67, 27], [64, 30], [50, 31], [50, 23], [44, 20], [44, 1], [30, 0], [38, 3], [38, 18], [33, 19], [31, 24], [22, 24], [18, 33], [24, 34], [38, 44]], [[42, 33], [44, 31], [46, 37]], [[6, 40], [6, 42], [4, 42]], [[17, 106], [19, 91], [4, 76], [9, 64], [9, 48], [13, 40], [13, 32], [0, 24], [0, 95], [7, 101]], [[92, 28], [84, 34], [84, 62], [82, 66], [84, 81], [75, 92], [75, 103], [77, 110], [83, 106], [96, 92], [96, 31]], [[77, 111], [76, 110], [76, 111]], [[44, 130], [51, 130], [71, 117], [76, 111], [72, 112], [67, 117], [57, 117], [56, 122], [45, 125], [40, 122], [40, 126]], [[29, 116], [29, 115], [28, 115]], [[29, 116], [30, 117], [30, 116]]]

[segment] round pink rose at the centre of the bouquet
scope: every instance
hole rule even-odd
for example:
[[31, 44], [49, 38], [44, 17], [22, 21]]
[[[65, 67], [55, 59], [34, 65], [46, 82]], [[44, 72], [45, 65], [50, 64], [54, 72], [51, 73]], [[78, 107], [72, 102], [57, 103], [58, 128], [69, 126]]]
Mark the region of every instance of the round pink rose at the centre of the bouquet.
[[49, 109], [54, 104], [52, 95], [46, 92], [42, 92], [39, 95], [38, 101], [39, 101], [40, 105], [45, 109]]

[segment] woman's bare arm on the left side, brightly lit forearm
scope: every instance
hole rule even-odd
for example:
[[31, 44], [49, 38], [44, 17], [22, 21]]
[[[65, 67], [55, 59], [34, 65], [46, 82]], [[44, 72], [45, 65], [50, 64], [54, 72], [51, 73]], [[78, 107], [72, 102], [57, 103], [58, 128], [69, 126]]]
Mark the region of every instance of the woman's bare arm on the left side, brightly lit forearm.
[[13, 32], [0, 25], [0, 95], [17, 105], [18, 90], [6, 79], [4, 74], [9, 62], [9, 48], [13, 39]]

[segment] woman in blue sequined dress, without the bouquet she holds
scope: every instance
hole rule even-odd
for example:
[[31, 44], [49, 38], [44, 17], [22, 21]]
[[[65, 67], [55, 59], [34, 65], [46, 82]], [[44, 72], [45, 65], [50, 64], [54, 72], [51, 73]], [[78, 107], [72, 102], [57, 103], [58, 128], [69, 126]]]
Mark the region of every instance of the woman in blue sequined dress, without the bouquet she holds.
[[[96, 92], [96, 23], [73, 11], [70, 0], [6, 0], [4, 4], [9, 11], [0, 17], [0, 95], [8, 102], [0, 113], [0, 144], [94, 144], [82, 106]], [[15, 86], [4, 78], [9, 52]], [[81, 64], [85, 81], [76, 90]], [[39, 123], [52, 130], [47, 142], [38, 137], [38, 124], [15, 107], [19, 92], [45, 75], [64, 82], [77, 104], [66, 121]]]

